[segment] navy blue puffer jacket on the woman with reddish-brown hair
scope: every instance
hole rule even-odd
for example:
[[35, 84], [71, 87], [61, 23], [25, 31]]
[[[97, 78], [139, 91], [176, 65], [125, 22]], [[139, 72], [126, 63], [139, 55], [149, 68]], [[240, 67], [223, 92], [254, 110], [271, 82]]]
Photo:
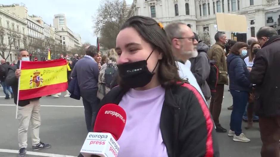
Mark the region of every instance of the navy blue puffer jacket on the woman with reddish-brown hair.
[[227, 58], [229, 89], [237, 91], [251, 91], [249, 71], [240, 55], [230, 53]]

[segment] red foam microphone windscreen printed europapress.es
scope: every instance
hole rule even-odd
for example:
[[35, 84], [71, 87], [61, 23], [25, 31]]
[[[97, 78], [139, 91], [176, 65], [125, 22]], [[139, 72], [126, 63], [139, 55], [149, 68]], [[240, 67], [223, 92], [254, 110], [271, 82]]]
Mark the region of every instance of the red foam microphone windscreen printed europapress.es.
[[118, 140], [125, 128], [125, 110], [116, 104], [105, 104], [97, 113], [94, 123], [94, 132], [111, 133]]

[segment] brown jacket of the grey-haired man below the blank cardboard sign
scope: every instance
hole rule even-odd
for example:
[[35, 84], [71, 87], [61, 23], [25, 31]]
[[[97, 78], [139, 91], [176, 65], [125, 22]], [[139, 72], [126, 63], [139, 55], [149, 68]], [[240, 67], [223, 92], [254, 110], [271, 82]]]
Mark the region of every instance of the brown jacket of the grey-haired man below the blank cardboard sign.
[[225, 47], [216, 42], [208, 51], [210, 60], [216, 61], [216, 66], [219, 68], [218, 84], [228, 85], [228, 69], [225, 60]]

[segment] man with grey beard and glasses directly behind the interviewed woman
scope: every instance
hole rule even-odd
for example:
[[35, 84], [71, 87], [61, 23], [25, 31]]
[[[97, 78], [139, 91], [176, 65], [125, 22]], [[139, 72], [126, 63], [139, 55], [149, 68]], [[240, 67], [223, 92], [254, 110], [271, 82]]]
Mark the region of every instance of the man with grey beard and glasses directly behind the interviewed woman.
[[[204, 98], [204, 95], [197, 84], [197, 80], [191, 72], [191, 62], [189, 58], [197, 56], [197, 40], [192, 29], [185, 23], [175, 22], [167, 25], [164, 30], [170, 39], [173, 55], [177, 59], [178, 72], [183, 80], [187, 80]], [[205, 100], [206, 102], [206, 100]]]

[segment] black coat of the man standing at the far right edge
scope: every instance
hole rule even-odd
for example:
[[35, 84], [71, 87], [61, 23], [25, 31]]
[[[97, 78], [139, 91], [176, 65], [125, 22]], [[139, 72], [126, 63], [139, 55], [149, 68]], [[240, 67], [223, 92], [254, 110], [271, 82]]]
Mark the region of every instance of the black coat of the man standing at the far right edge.
[[258, 51], [250, 73], [256, 113], [259, 116], [280, 116], [280, 35], [271, 37]]

